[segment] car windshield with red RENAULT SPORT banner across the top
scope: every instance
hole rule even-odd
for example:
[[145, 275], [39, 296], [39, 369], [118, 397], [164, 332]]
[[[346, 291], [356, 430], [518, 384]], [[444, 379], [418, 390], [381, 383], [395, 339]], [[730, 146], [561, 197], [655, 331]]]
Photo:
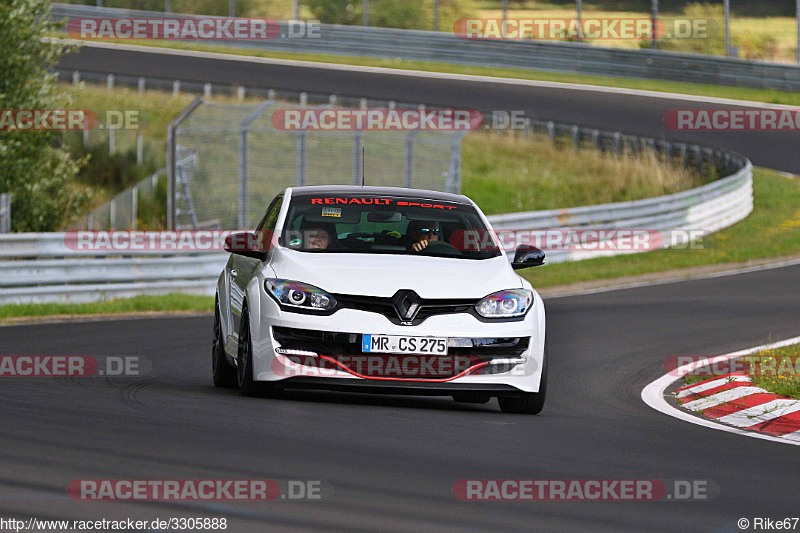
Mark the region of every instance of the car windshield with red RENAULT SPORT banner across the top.
[[461, 259], [500, 255], [471, 205], [365, 194], [293, 196], [281, 244], [301, 252]]

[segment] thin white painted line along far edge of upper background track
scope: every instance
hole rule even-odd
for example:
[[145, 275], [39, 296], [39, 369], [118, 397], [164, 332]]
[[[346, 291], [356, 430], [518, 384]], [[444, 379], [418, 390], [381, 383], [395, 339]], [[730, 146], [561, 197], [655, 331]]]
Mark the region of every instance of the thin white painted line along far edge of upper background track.
[[386, 67], [365, 67], [358, 65], [322, 63], [318, 61], [297, 61], [292, 59], [275, 59], [268, 57], [242, 56], [235, 54], [222, 54], [218, 52], [200, 52], [197, 50], [179, 50], [175, 48], [160, 48], [155, 46], [141, 46], [131, 44], [101, 43], [93, 41], [81, 41], [74, 39], [51, 39], [53, 41], [63, 41], [77, 43], [89, 48], [106, 48], [110, 50], [127, 50], [131, 52], [147, 52], [151, 54], [176, 55], [183, 57], [199, 57], [204, 59], [218, 59], [223, 61], [238, 61], [243, 63], [261, 63], [267, 65], [282, 65], [289, 67], [305, 67], [326, 70], [344, 70], [347, 72], [367, 72], [373, 74], [385, 74], [392, 76], [405, 76], [414, 78], [435, 78], [445, 80], [470, 81], [477, 83], [497, 83], [505, 85], [522, 85], [528, 87], [543, 87], [549, 89], [564, 89], [571, 91], [586, 91], [609, 94], [626, 94], [632, 96], [644, 96], [648, 98], [659, 98], [665, 100], [679, 100], [693, 103], [721, 104], [737, 107], [749, 107], [755, 109], [787, 109], [792, 111], [800, 110], [798, 106], [768, 104], [764, 102], [753, 102], [749, 100], [733, 100], [730, 98], [717, 98], [712, 96], [687, 95], [680, 93], [665, 93], [659, 91], [645, 91], [640, 89], [624, 89], [620, 87], [605, 87], [602, 85], [589, 85], [581, 83], [565, 83], [556, 81], [521, 80], [518, 78], [500, 78], [494, 76], [476, 76], [471, 74], [451, 74], [447, 72], [428, 72], [424, 70], [407, 70]]

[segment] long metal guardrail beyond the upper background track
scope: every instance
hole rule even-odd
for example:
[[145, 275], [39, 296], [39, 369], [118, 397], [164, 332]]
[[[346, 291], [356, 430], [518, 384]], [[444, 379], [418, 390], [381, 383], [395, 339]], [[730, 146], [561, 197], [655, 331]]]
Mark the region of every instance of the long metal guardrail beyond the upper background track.
[[[54, 18], [196, 18], [156, 11], [53, 4]], [[320, 24], [318, 38], [226, 40], [243, 48], [381, 58], [441, 61], [487, 67], [511, 67], [601, 76], [712, 83], [800, 90], [800, 66], [659, 50], [601, 48], [582, 43], [536, 40], [470, 40], [450, 32], [398, 30]], [[280, 22], [279, 35], [288, 35]], [[208, 44], [211, 41], [206, 41]]]

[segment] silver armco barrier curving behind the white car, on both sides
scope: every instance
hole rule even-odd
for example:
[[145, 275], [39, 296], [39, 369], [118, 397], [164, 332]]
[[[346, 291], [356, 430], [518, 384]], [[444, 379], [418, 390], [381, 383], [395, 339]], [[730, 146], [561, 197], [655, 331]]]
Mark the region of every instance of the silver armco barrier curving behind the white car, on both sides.
[[[664, 232], [711, 233], [745, 218], [753, 209], [752, 166], [732, 176], [668, 196], [552, 211], [489, 217], [496, 230], [506, 228], [645, 228]], [[0, 261], [0, 304], [85, 302], [138, 294], [184, 292], [214, 294], [214, 282], [227, 254], [173, 257], [81, 258], [99, 252], [76, 251], [64, 233], [0, 235], [0, 257], [64, 257]], [[664, 247], [675, 243], [665, 242]], [[509, 256], [513, 249], [507, 250]], [[137, 252], [141, 253], [141, 252]], [[154, 252], [164, 255], [164, 252]], [[553, 251], [551, 263], [577, 261], [615, 251]], [[119, 252], [115, 252], [119, 254]]]

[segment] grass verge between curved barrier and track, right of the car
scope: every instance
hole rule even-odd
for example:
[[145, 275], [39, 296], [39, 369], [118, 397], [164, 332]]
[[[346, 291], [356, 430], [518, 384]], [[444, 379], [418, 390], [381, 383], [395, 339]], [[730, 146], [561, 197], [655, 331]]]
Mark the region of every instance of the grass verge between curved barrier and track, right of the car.
[[703, 249], [667, 249], [574, 263], [557, 263], [521, 273], [536, 287], [549, 287], [680, 268], [739, 263], [800, 253], [800, 179], [755, 169], [753, 212], [703, 239]]

